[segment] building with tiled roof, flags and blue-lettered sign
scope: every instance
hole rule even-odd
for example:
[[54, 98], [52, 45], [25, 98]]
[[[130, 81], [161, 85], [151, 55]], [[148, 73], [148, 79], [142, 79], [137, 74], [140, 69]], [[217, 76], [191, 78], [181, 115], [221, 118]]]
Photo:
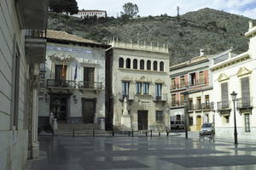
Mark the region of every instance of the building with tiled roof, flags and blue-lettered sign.
[[110, 46], [48, 31], [41, 65], [39, 131], [53, 113], [63, 124], [96, 124], [105, 129], [105, 50]]

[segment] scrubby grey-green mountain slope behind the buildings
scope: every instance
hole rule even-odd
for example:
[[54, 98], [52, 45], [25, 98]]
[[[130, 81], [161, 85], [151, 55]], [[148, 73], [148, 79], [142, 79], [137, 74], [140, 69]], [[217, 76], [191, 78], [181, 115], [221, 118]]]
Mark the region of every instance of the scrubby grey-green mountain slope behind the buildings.
[[[166, 14], [135, 19], [78, 19], [61, 14], [49, 14], [49, 29], [67, 31], [95, 40], [108, 42], [113, 37], [120, 41], [153, 42], [169, 45], [171, 64], [174, 65], [198, 56], [201, 48], [205, 54], [217, 54], [233, 48], [240, 54], [247, 50], [247, 17], [203, 8], [179, 17]], [[253, 20], [255, 22], [255, 20]]]

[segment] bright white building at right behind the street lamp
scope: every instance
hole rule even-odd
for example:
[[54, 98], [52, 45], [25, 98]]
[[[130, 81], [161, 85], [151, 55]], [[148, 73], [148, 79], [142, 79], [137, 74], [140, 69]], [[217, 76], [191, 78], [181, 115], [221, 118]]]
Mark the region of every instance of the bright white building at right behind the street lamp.
[[236, 56], [222, 55], [212, 58], [213, 99], [217, 102], [215, 128], [218, 136], [233, 138], [234, 105], [230, 94], [235, 91], [236, 123], [238, 139], [256, 139], [256, 26], [250, 22], [246, 37], [250, 39], [249, 49]]

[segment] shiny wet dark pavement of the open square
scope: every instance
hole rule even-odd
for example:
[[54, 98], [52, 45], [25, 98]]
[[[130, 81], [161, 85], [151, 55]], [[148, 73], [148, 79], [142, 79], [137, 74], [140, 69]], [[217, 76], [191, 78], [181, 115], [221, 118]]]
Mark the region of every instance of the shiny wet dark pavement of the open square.
[[256, 170], [256, 144], [183, 137], [40, 137], [32, 170]]

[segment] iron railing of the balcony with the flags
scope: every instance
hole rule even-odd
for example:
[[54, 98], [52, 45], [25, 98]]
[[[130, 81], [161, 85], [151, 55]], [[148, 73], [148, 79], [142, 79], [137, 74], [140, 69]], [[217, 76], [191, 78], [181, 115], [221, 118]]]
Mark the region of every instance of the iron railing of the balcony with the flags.
[[76, 82], [72, 80], [55, 80], [48, 79], [46, 86], [55, 88], [76, 88]]

